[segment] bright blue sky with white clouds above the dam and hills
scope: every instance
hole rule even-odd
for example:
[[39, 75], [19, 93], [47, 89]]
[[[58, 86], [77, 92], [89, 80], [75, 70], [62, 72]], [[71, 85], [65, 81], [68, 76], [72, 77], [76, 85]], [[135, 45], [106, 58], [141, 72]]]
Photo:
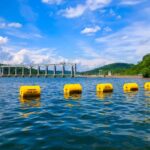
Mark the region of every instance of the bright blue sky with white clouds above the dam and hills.
[[0, 0], [0, 62], [88, 70], [150, 53], [149, 0]]

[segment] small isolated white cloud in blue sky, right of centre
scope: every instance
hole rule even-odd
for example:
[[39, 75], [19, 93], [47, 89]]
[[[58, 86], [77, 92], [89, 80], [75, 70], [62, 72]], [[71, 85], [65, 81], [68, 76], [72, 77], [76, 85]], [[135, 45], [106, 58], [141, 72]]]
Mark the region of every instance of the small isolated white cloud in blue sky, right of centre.
[[81, 31], [81, 33], [82, 33], [82, 34], [87, 34], [87, 35], [89, 35], [89, 34], [92, 34], [92, 33], [96, 33], [96, 32], [98, 32], [99, 30], [101, 30], [101, 28], [100, 28], [99, 26], [86, 27], [86, 28], [84, 28], [84, 29]]

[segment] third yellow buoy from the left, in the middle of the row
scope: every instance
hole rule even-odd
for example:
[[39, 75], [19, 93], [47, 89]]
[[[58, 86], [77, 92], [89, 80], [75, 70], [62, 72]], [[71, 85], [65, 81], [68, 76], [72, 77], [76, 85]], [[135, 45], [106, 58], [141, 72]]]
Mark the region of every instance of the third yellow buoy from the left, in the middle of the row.
[[97, 92], [112, 92], [113, 91], [113, 85], [111, 83], [103, 83], [103, 84], [97, 84], [96, 86]]

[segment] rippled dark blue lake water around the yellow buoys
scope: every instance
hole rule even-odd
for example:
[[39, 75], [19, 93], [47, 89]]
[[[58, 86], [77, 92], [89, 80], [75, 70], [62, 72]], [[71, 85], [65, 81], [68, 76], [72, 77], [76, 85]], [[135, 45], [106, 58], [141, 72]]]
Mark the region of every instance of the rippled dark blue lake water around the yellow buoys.
[[[143, 79], [0, 78], [0, 150], [149, 150], [150, 91]], [[96, 94], [110, 82], [114, 92]], [[138, 92], [124, 93], [125, 82]], [[81, 97], [65, 99], [63, 86], [80, 83]], [[21, 85], [40, 85], [40, 100], [22, 101]]]

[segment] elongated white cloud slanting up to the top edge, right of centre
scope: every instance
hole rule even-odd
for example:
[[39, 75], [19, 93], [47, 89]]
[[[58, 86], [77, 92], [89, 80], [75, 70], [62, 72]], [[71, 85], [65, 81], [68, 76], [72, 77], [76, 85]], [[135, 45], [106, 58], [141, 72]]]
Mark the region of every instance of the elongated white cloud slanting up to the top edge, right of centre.
[[82, 16], [86, 11], [94, 11], [105, 7], [111, 0], [86, 0], [85, 4], [78, 4], [76, 7], [66, 8], [61, 11], [66, 18]]

